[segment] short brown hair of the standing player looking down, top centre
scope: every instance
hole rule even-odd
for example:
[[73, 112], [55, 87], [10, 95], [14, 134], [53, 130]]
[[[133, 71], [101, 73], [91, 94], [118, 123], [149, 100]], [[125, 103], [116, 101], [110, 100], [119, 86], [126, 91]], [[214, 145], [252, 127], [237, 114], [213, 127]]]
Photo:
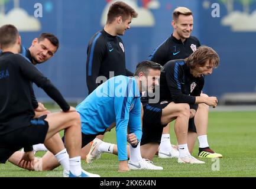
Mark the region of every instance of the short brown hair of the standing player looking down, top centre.
[[125, 21], [128, 19], [129, 15], [131, 15], [132, 18], [137, 18], [138, 13], [124, 2], [116, 1], [109, 7], [106, 23], [111, 24], [114, 19], [119, 16], [122, 17], [123, 21]]

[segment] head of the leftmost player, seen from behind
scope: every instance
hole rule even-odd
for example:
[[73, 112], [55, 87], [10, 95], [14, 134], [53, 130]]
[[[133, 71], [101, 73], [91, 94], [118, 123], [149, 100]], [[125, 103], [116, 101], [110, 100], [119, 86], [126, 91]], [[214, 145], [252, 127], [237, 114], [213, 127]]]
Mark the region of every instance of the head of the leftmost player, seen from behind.
[[19, 32], [14, 25], [7, 24], [0, 28], [0, 44], [2, 48], [14, 45], [19, 37]]

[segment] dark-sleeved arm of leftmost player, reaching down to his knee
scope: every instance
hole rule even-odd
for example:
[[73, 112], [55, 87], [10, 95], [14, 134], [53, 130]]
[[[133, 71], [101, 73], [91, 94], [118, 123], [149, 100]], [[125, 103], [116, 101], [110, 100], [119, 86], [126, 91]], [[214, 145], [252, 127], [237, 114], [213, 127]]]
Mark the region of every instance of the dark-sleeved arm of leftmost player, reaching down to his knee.
[[38, 87], [42, 88], [44, 92], [53, 99], [64, 112], [69, 111], [70, 106], [63, 98], [59, 90], [47, 79], [40, 71], [35, 68], [31, 63], [25, 60], [24, 57], [17, 54], [18, 66], [21, 69], [21, 73], [29, 79], [31, 82], [37, 84]]

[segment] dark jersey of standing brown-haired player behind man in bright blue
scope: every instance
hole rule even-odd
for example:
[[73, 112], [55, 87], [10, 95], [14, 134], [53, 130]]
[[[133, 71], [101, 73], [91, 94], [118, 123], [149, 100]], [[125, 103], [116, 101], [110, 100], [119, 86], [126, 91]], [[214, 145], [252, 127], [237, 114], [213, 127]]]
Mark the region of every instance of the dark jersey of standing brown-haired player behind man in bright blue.
[[89, 41], [86, 61], [86, 82], [89, 94], [102, 82], [96, 82], [97, 77], [132, 76], [125, 68], [125, 48], [122, 39], [108, 34], [105, 30], [97, 32]]

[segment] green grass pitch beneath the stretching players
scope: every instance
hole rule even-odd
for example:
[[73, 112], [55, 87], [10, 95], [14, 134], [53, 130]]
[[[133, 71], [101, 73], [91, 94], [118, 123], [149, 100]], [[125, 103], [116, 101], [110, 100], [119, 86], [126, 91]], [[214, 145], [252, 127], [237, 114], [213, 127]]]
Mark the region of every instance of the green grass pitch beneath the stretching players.
[[[101, 177], [256, 177], [256, 112], [210, 112], [208, 141], [210, 147], [223, 155], [221, 159], [202, 159], [206, 164], [178, 164], [177, 159], [154, 157], [155, 165], [163, 171], [118, 172], [118, 159], [115, 155], [102, 154], [101, 159], [92, 164], [82, 161], [84, 170]], [[173, 128], [173, 127], [172, 127]], [[115, 129], [106, 133], [106, 142], [115, 142]], [[176, 144], [173, 129], [171, 141]], [[198, 152], [198, 142], [193, 155]], [[43, 155], [38, 152], [36, 156]], [[0, 164], [0, 177], [61, 177], [61, 167], [53, 171], [27, 171], [11, 163]]]

